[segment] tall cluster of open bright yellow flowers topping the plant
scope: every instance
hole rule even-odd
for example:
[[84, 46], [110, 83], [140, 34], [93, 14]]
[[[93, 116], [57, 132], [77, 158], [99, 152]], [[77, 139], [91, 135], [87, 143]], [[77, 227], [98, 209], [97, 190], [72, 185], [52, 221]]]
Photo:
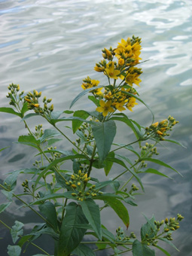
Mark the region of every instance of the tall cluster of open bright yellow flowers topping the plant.
[[[108, 86], [105, 86], [105, 91], [102, 93], [102, 88], [90, 90], [97, 99], [99, 99], [99, 106], [96, 111], [102, 113], [104, 117], [114, 111], [124, 111], [129, 109], [133, 111], [133, 107], [137, 105], [135, 95], [138, 94], [133, 84], [139, 86], [142, 74], [142, 69], [136, 68], [139, 64], [139, 57], [141, 53], [141, 38], [124, 39], [118, 43], [116, 48], [110, 47], [102, 50], [104, 59], [96, 63], [95, 71], [102, 72], [108, 78]], [[114, 57], [117, 61], [114, 61]], [[111, 83], [111, 79], [113, 82]], [[116, 85], [116, 81], [120, 79], [120, 83]], [[92, 87], [97, 87], [99, 81], [92, 80], [87, 77], [83, 80], [81, 87], [86, 90]]]

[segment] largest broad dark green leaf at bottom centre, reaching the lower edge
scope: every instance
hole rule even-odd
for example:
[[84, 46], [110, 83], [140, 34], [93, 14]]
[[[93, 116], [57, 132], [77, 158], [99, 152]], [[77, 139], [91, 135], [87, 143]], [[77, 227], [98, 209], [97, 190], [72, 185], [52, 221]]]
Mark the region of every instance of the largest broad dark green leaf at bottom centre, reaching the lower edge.
[[66, 215], [62, 220], [57, 256], [68, 256], [83, 239], [86, 230], [72, 227], [73, 224], [87, 224], [87, 219], [81, 206], [72, 202], [66, 207]]

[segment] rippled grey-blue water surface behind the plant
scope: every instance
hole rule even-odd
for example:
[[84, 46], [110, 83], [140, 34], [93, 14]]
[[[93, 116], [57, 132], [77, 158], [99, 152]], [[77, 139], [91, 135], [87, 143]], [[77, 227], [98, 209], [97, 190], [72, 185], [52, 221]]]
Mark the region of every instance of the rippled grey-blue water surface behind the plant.
[[[181, 252], [164, 247], [173, 256], [192, 255], [191, 13], [191, 2], [187, 0], [0, 0], [1, 106], [8, 106], [5, 96], [8, 84], [13, 82], [26, 92], [35, 89], [52, 97], [55, 109], [68, 109], [72, 99], [81, 92], [82, 79], [87, 75], [100, 79], [93, 67], [101, 59], [103, 47], [116, 47], [120, 38], [132, 35], [142, 38], [142, 59], [150, 61], [142, 64], [144, 73], [139, 94], [151, 106], [155, 120], [162, 120], [169, 114], [179, 120], [172, 139], [179, 140], [187, 149], [177, 145], [159, 149], [160, 159], [181, 172], [184, 178], [169, 170], [165, 173], [174, 180], [145, 175], [142, 179], [145, 195], [138, 197], [137, 209], [129, 207], [130, 231], [134, 230], [139, 236], [137, 230], [145, 222], [141, 212], [149, 218], [154, 213], [159, 220], [181, 213], [185, 219], [174, 235], [174, 243]], [[84, 99], [73, 109], [90, 109]], [[151, 122], [149, 111], [141, 104], [134, 108], [130, 117], [145, 126]], [[41, 122], [38, 118], [29, 120], [31, 126]], [[123, 133], [127, 129], [123, 125], [119, 128]], [[1, 114], [0, 133], [1, 148], [11, 145], [1, 153], [0, 178], [13, 169], [31, 166], [29, 156], [35, 151], [31, 153], [27, 147], [12, 144], [26, 133], [23, 123], [17, 117]], [[129, 136], [119, 136], [119, 139], [123, 141]], [[111, 173], [111, 177], [113, 175]], [[14, 206], [11, 206], [6, 215], [2, 214], [9, 225], [19, 218], [23, 222], [32, 220], [26, 227], [30, 228], [38, 221], [23, 209], [18, 209], [14, 215], [13, 211]], [[103, 215], [103, 222], [113, 231], [116, 216], [110, 212], [111, 219], [108, 219], [106, 211]], [[4, 227], [1, 229], [1, 236], [6, 236], [6, 240], [0, 240], [4, 256], [11, 238]], [[46, 242], [48, 245], [49, 241]], [[38, 253], [33, 252], [32, 247], [30, 250], [30, 255]], [[162, 254], [158, 252], [158, 255]]]

